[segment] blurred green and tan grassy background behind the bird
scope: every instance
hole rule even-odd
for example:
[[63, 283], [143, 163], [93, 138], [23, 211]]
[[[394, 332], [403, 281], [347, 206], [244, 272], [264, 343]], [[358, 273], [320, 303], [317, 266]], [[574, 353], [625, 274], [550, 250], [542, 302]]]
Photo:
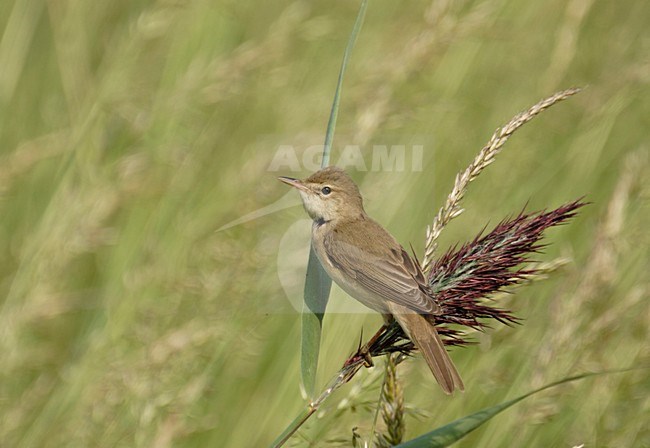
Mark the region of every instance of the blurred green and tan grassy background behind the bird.
[[[0, 445], [266, 446], [304, 406], [277, 269], [304, 212], [216, 230], [287, 193], [275, 178], [292, 173], [268, 169], [279, 145], [322, 143], [357, 7], [0, 2]], [[514, 135], [440, 239], [586, 195], [536, 257], [571, 261], [504, 300], [522, 326], [453, 350], [464, 394], [444, 396], [420, 359], [400, 366], [409, 437], [575, 373], [650, 365], [649, 20], [643, 1], [371, 0], [332, 159], [423, 145], [422, 171], [351, 170], [369, 214], [419, 254], [493, 130], [587, 86]], [[325, 319], [321, 385], [380, 321]], [[292, 444], [368, 437], [380, 370]], [[545, 392], [458, 446], [647, 447], [649, 420], [636, 371]]]

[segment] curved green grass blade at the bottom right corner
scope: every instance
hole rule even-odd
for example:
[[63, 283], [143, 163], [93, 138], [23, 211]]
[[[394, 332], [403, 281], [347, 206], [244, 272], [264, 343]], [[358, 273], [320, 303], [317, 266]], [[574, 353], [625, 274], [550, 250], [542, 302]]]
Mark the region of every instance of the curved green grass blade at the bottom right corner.
[[[632, 370], [632, 369], [628, 369]], [[448, 423], [445, 426], [441, 426], [438, 429], [435, 429], [431, 432], [423, 434], [415, 439], [404, 442], [400, 445], [397, 445], [397, 448], [443, 448], [450, 446], [451, 444], [459, 441], [465, 437], [470, 432], [474, 431], [476, 428], [481, 426], [483, 423], [490, 420], [492, 417], [495, 417], [497, 414], [505, 411], [510, 406], [519, 403], [525, 398], [535, 395], [538, 392], [541, 392], [546, 389], [550, 389], [560, 384], [570, 383], [572, 381], [577, 381], [583, 378], [588, 378], [597, 375], [604, 375], [608, 373], [621, 373], [627, 370], [614, 370], [614, 371], [603, 371], [603, 372], [590, 372], [584, 373], [582, 375], [576, 375], [562, 380], [556, 381], [554, 383], [547, 384], [540, 387], [532, 392], [528, 392], [524, 395], [521, 395], [512, 400], [506, 401], [504, 403], [492, 406], [490, 408], [483, 409], [481, 411], [475, 412], [474, 414], [468, 415], [466, 417], [454, 420], [451, 423]]]

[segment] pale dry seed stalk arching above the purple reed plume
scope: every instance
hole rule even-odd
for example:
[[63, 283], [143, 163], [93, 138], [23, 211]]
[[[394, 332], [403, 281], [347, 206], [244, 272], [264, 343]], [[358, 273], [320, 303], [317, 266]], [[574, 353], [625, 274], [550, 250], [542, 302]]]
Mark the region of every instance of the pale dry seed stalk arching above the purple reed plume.
[[449, 193], [449, 196], [447, 196], [445, 205], [440, 208], [431, 226], [427, 227], [424, 260], [422, 263], [425, 274], [431, 270], [433, 265], [433, 255], [437, 248], [436, 240], [440, 236], [442, 229], [449, 221], [463, 213], [463, 209], [460, 207], [460, 201], [465, 196], [469, 183], [476, 179], [488, 165], [494, 162], [496, 155], [517, 129], [532, 120], [542, 111], [578, 92], [580, 92], [579, 88], [557, 92], [541, 100], [530, 109], [515, 115], [508, 124], [498, 128], [492, 134], [490, 141], [481, 149], [467, 169], [456, 176], [454, 188]]

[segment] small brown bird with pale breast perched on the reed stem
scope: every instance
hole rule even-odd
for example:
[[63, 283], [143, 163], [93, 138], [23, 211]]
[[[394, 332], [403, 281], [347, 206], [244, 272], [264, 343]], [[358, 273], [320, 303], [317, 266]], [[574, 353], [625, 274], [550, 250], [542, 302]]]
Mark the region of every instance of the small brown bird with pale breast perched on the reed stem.
[[463, 381], [433, 325], [440, 306], [419, 264], [363, 209], [359, 187], [345, 171], [327, 167], [305, 180], [280, 177], [300, 192], [312, 224], [312, 244], [327, 274], [345, 292], [397, 320], [433, 376], [450, 394]]

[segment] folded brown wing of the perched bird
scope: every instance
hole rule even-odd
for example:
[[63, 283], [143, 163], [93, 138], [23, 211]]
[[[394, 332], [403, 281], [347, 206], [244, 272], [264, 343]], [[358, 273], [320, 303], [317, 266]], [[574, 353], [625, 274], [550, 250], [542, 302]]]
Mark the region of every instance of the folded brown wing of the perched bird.
[[[390, 235], [386, 236], [386, 241], [366, 246], [371, 242], [362, 236], [352, 244], [340, 232], [330, 232], [324, 239], [324, 249], [344, 276], [377, 296], [417, 313], [439, 314], [438, 304], [426, 293], [428, 287], [420, 267]], [[372, 249], [365, 250], [364, 246]]]

